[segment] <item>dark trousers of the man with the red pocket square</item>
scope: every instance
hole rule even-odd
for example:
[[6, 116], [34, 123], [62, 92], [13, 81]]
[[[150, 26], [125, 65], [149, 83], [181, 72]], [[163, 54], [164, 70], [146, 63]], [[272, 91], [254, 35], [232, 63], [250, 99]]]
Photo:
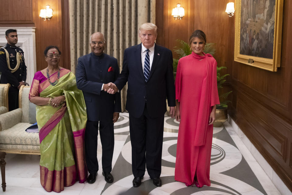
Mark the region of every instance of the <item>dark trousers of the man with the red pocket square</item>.
[[87, 120], [85, 130], [85, 158], [88, 172], [95, 174], [98, 171], [97, 160], [97, 136], [98, 136], [98, 123], [100, 140], [102, 144], [102, 166], [103, 172], [112, 171], [113, 148], [114, 148], [114, 132], [113, 122], [89, 121]]

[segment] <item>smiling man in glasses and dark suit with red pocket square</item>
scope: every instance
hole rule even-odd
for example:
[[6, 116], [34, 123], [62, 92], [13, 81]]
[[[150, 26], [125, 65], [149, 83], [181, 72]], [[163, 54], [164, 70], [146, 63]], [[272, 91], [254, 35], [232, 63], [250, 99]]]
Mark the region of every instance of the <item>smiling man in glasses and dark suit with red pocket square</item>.
[[78, 59], [76, 82], [78, 89], [83, 91], [87, 124], [85, 129], [85, 158], [89, 171], [88, 183], [94, 183], [98, 171], [97, 136], [98, 126], [102, 144], [102, 166], [106, 182], [112, 183], [112, 159], [114, 148], [113, 123], [121, 112], [121, 96], [114, 96], [103, 90], [108, 89], [104, 83], [113, 82], [120, 73], [118, 61], [103, 50], [106, 42], [103, 34], [96, 32], [91, 35], [91, 53]]

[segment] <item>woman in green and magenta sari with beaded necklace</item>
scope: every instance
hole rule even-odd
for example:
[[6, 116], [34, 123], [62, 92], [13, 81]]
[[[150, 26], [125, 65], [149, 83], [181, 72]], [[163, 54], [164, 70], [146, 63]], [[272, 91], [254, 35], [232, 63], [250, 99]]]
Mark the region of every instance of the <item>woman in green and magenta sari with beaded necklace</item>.
[[76, 180], [84, 183], [86, 106], [74, 74], [59, 67], [61, 52], [56, 46], [44, 51], [48, 67], [35, 73], [30, 102], [36, 104], [40, 129], [40, 183], [48, 192], [61, 192]]

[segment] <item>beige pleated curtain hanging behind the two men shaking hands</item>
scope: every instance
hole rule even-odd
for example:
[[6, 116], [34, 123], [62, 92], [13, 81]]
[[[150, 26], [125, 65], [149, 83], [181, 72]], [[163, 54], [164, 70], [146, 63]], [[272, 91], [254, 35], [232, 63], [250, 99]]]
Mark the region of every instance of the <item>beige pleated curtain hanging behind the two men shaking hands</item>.
[[[106, 39], [105, 53], [118, 59], [120, 71], [125, 48], [139, 44], [138, 29], [145, 22], [155, 23], [155, 0], [69, 0], [71, 71], [78, 57], [88, 54], [90, 36], [101, 32]], [[121, 91], [125, 110], [127, 85]]]

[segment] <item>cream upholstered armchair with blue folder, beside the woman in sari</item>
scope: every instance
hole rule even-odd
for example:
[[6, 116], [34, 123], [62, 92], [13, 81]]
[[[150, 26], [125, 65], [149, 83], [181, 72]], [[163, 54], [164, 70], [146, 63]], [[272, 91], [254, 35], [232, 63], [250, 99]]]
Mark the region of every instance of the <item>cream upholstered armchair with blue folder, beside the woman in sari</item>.
[[25, 129], [36, 122], [35, 105], [29, 101], [30, 87], [21, 86], [19, 108], [0, 115], [0, 151], [16, 154], [40, 154], [38, 133]]

